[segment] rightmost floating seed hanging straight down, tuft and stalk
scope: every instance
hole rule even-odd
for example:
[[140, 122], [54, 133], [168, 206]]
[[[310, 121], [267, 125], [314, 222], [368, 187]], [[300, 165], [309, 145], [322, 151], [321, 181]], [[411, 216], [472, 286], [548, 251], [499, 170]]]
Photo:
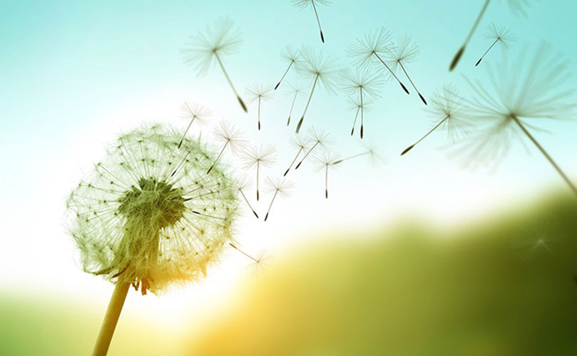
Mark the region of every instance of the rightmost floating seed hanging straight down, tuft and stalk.
[[[370, 68], [362, 68], [357, 70], [351, 70], [349, 68], [342, 70], [341, 72], [341, 89], [345, 95], [350, 95], [352, 98], [359, 98], [359, 105], [357, 110], [357, 115], [361, 114], [361, 139], [363, 137], [363, 125], [364, 125], [364, 100], [369, 98], [379, 98], [379, 86], [382, 85], [383, 81], [375, 75], [375, 73]], [[357, 117], [355, 117], [355, 122]], [[351, 130], [354, 131], [353, 128]]]

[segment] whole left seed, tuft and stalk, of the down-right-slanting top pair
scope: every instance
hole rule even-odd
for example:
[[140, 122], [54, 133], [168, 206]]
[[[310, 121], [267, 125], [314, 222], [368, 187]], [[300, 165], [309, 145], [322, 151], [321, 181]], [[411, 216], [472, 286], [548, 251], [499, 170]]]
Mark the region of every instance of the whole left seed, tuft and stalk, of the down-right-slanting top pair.
[[383, 60], [383, 57], [390, 51], [390, 46], [392, 46], [391, 33], [384, 28], [379, 28], [376, 31], [370, 32], [368, 35], [364, 35], [362, 39], [357, 38], [357, 43], [350, 45], [347, 51], [352, 57], [356, 58], [354, 64], [357, 66], [368, 66], [374, 61], [381, 63], [384, 68], [387, 68], [388, 75], [392, 76], [394, 80], [397, 80], [397, 83], [401, 85], [404, 92], [409, 94], [407, 87], [404, 86], [402, 81], [394, 73], [394, 70]]

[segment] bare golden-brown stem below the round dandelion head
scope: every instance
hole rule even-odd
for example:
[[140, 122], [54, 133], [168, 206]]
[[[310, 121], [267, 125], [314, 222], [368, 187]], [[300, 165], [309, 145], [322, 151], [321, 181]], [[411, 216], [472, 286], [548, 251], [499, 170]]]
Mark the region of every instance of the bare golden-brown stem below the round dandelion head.
[[128, 293], [128, 287], [130, 286], [130, 283], [116, 282], [100, 332], [98, 333], [98, 338], [96, 339], [96, 345], [94, 345], [92, 356], [105, 356], [106, 353], [108, 353], [108, 347], [110, 346], [112, 335], [116, 329], [118, 317], [121, 315], [124, 300], [126, 300], [126, 294]]

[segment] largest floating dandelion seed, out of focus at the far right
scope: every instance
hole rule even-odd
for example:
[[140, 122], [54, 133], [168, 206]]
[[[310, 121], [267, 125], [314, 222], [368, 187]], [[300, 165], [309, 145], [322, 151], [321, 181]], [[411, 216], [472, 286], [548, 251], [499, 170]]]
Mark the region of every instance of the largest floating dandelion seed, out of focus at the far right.
[[546, 43], [538, 46], [523, 70], [525, 59], [526, 51], [521, 51], [519, 60], [514, 63], [503, 61], [494, 69], [488, 66], [493, 90], [479, 80], [467, 79], [477, 96], [466, 104], [474, 113], [474, 119], [485, 125], [478, 130], [476, 140], [472, 144], [466, 143], [464, 150], [455, 155], [466, 154], [465, 165], [479, 162], [496, 168], [509, 150], [511, 139], [525, 135], [577, 194], [573, 182], [531, 134], [531, 130], [540, 129], [529, 123], [531, 120], [563, 119], [574, 114], [577, 105], [573, 92], [563, 88], [569, 76], [566, 61]]

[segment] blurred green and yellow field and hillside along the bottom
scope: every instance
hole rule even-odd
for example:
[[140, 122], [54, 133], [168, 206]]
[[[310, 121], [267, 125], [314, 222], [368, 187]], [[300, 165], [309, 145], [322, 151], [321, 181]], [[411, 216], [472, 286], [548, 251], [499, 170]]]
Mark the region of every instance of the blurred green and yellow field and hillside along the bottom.
[[[247, 280], [230, 318], [178, 345], [123, 320], [111, 355], [577, 355], [575, 200], [449, 232], [311, 236]], [[89, 355], [101, 311], [0, 295], [0, 355]]]

